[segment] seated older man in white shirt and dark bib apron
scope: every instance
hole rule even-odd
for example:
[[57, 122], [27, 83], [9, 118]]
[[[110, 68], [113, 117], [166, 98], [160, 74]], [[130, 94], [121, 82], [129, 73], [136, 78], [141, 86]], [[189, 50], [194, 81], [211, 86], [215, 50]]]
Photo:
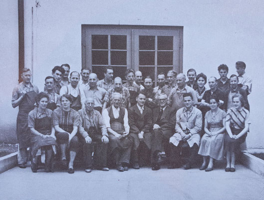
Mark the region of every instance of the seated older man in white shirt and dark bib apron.
[[112, 106], [103, 110], [103, 120], [109, 133], [109, 152], [114, 156], [117, 170], [128, 170], [132, 138], [129, 135], [127, 109], [120, 106], [122, 95], [114, 92]]

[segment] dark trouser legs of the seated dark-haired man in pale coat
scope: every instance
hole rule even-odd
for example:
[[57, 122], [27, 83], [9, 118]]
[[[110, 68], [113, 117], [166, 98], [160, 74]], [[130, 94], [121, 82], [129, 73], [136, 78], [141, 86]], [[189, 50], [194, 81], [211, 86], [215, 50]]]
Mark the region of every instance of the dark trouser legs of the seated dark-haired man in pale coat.
[[189, 146], [187, 141], [180, 141], [178, 146], [173, 144], [171, 145], [171, 163], [177, 164], [181, 163], [180, 155], [183, 148], [190, 151], [190, 156], [188, 158], [188, 162], [191, 164], [196, 163], [197, 153], [199, 150], [199, 146], [195, 143], [192, 147]]

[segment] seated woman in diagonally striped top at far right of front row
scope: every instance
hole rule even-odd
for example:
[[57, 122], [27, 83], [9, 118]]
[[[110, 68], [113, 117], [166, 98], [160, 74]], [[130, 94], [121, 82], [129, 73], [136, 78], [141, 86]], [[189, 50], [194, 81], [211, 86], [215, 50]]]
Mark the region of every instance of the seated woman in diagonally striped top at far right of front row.
[[241, 94], [232, 97], [233, 107], [228, 109], [226, 117], [225, 151], [227, 152], [226, 171], [234, 172], [236, 152], [240, 150], [240, 144], [246, 140], [250, 126], [250, 112], [245, 109], [245, 100]]

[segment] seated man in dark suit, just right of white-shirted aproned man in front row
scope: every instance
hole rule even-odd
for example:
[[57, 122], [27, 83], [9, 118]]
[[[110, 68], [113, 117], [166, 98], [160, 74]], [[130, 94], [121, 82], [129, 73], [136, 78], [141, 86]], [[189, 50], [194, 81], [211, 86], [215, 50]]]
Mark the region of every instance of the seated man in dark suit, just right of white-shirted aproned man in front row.
[[144, 106], [146, 102], [145, 93], [139, 93], [136, 101], [137, 104], [129, 108], [128, 123], [130, 135], [134, 138], [133, 168], [139, 169], [139, 161], [142, 163], [140, 165], [147, 164], [150, 158], [152, 111]]

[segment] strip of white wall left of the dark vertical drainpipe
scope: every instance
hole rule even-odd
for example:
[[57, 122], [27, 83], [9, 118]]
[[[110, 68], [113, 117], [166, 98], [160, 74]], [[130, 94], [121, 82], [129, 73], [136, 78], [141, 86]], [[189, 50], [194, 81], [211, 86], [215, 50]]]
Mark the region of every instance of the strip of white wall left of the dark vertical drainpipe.
[[17, 0], [0, 0], [0, 141], [16, 140], [16, 115], [11, 98], [18, 83]]

